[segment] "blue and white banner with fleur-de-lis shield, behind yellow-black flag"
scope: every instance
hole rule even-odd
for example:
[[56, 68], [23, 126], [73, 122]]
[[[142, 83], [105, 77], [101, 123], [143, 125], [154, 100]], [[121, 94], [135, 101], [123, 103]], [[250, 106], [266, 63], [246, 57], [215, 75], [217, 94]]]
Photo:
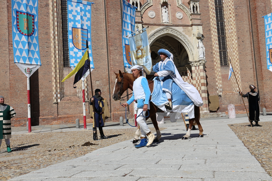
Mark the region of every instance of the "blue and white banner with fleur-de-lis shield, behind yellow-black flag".
[[[89, 45], [91, 71], [94, 69], [91, 43], [91, 5], [93, 2], [67, 0], [68, 43], [70, 67], [74, 69], [86, 51], [86, 40]], [[84, 78], [89, 75], [86, 72]]]

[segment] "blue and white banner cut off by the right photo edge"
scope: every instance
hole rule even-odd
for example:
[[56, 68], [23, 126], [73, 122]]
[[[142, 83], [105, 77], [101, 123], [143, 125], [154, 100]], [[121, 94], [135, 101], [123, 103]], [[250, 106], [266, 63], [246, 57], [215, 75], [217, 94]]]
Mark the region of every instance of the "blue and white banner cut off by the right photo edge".
[[267, 69], [272, 72], [272, 13], [264, 16]]

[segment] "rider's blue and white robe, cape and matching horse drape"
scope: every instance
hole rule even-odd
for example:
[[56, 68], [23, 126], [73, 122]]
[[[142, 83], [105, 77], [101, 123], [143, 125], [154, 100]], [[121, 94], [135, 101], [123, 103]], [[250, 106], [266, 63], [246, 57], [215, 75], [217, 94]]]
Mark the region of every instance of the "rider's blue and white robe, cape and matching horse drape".
[[[202, 106], [203, 101], [196, 88], [184, 82], [173, 62], [173, 55], [170, 59], [166, 58], [153, 66], [153, 71], [157, 72], [159, 78], [154, 78], [154, 89], [152, 93], [152, 102], [163, 110], [166, 115], [175, 112], [175, 118], [179, 119], [181, 113], [188, 113], [189, 119], [194, 118], [194, 105]], [[166, 110], [164, 105], [168, 102], [166, 92], [172, 96], [173, 109]]]

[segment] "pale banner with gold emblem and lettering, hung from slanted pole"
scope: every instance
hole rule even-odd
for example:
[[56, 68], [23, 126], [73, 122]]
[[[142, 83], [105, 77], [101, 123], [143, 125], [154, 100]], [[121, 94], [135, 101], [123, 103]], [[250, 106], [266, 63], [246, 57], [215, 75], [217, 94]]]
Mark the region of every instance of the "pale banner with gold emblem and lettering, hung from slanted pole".
[[[139, 33], [143, 31], [142, 33]], [[140, 65], [144, 67], [144, 71], [150, 74], [152, 70], [152, 60], [150, 56], [150, 47], [146, 28], [137, 31], [129, 36], [129, 45], [131, 53], [132, 66]]]

